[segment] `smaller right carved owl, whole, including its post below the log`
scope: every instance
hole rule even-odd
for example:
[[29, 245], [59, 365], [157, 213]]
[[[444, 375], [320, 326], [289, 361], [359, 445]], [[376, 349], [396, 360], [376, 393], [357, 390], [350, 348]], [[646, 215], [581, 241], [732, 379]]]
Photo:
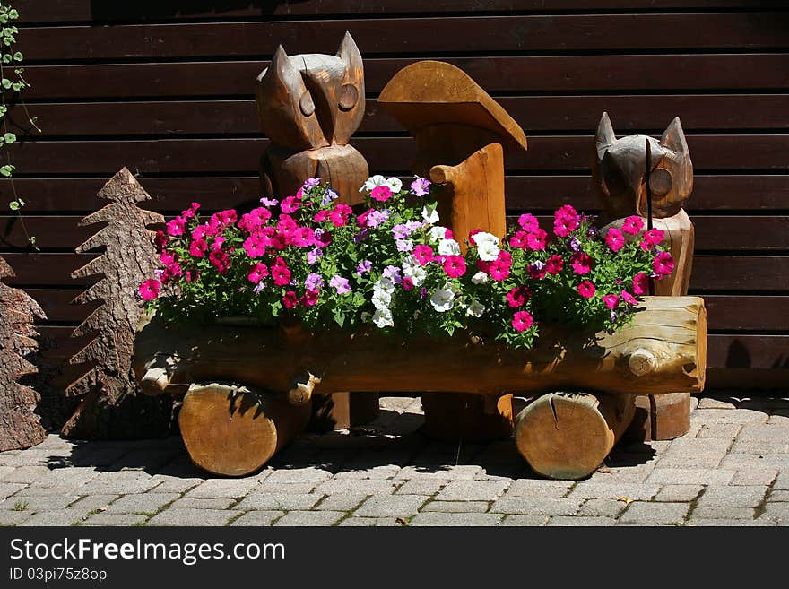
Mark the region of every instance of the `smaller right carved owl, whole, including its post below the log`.
[[[646, 135], [618, 140], [608, 113], [603, 113], [594, 139], [592, 177], [607, 227], [620, 227], [624, 217], [634, 214], [648, 218], [651, 200], [651, 222], [665, 231], [662, 245], [674, 258], [674, 272], [654, 283], [655, 294], [687, 294], [694, 230], [682, 207], [693, 190], [693, 164], [679, 117], [672, 120], [660, 141]], [[647, 193], [651, 199], [647, 199]], [[636, 403], [638, 411], [631, 432], [641, 432], [641, 437], [671, 439], [684, 435], [690, 427], [687, 393], [640, 396]]]

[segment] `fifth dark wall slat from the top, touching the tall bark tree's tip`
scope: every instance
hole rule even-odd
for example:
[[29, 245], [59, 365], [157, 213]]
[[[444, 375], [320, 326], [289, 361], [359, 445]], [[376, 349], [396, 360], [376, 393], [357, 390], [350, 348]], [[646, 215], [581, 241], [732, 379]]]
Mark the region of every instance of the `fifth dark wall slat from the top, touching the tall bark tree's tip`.
[[[789, 169], [789, 134], [689, 135], [694, 169]], [[415, 154], [411, 137], [358, 137], [351, 143], [371, 170], [410, 169]], [[38, 141], [22, 143], [13, 163], [27, 174], [102, 174], [127, 166], [134, 173], [182, 174], [249, 172], [257, 169], [266, 139], [164, 139], [116, 141]], [[592, 136], [537, 136], [528, 152], [509, 153], [508, 171], [589, 169]]]

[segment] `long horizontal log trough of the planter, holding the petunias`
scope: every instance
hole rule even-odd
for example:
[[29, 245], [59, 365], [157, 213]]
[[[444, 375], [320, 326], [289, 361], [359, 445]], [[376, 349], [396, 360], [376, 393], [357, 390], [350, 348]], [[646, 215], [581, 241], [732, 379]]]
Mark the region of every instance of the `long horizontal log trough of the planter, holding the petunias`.
[[[647, 370], [634, 355], [654, 357]], [[178, 326], [145, 317], [134, 372], [164, 368], [168, 382], [230, 379], [277, 393], [305, 371], [321, 378], [315, 394], [437, 391], [500, 395], [562, 388], [623, 394], [701, 391], [707, 367], [707, 316], [697, 297], [645, 297], [631, 325], [616, 333], [551, 332], [528, 351], [458, 333], [437, 342], [398, 342], [374, 332], [307, 333], [295, 348], [280, 330]], [[168, 387], [165, 387], [167, 390]]]

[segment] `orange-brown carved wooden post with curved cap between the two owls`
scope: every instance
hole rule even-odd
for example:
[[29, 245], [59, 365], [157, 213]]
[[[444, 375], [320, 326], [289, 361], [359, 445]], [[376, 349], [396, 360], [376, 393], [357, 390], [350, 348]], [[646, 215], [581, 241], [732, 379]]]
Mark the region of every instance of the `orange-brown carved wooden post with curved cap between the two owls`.
[[[523, 129], [454, 65], [409, 65], [381, 91], [383, 105], [416, 138], [414, 171], [439, 185], [438, 215], [463, 244], [469, 230], [503, 238], [504, 146], [525, 150]], [[512, 395], [482, 403], [468, 394], [422, 395], [430, 435], [484, 440], [512, 431]]]

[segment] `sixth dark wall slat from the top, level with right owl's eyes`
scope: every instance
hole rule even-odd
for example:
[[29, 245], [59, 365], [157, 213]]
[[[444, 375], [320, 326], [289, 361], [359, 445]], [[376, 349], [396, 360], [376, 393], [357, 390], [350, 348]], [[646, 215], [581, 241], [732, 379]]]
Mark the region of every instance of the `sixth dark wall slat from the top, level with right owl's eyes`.
[[[140, 182], [152, 196], [148, 208], [178, 212], [197, 201], [204, 208], [218, 210], [259, 196], [256, 176], [230, 178], [147, 178]], [[403, 178], [406, 180], [408, 178]], [[102, 206], [95, 197], [108, 177], [100, 178], [17, 178], [17, 191], [27, 203], [24, 214], [37, 212], [92, 212]], [[586, 176], [508, 176], [507, 208], [510, 211], [546, 211], [572, 204], [591, 211], [599, 204]], [[0, 180], [0, 197], [11, 200], [8, 180]], [[697, 174], [688, 211], [703, 212], [789, 209], [789, 176]]]

